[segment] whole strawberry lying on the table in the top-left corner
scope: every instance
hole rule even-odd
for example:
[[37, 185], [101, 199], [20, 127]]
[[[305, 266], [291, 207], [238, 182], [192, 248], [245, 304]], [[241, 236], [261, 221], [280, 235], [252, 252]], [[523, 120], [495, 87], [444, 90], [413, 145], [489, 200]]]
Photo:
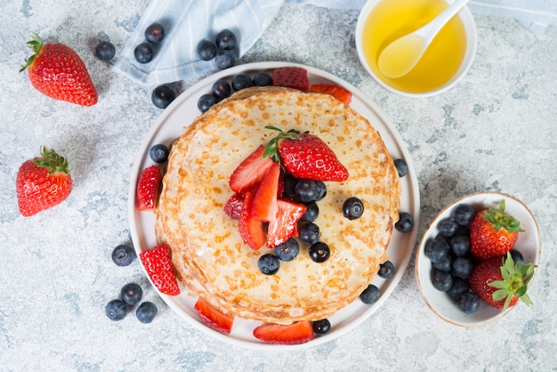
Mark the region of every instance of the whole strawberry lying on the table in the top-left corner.
[[55, 100], [81, 106], [97, 103], [97, 90], [77, 53], [64, 44], [43, 44], [35, 33], [32, 37], [27, 44], [34, 54], [25, 60], [20, 71], [28, 69], [36, 90]]

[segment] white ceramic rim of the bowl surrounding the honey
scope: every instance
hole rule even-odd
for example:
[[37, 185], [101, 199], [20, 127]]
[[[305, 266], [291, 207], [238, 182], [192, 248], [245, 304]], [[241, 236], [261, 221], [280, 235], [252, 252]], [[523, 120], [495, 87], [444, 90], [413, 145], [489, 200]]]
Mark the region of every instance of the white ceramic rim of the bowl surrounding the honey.
[[[456, 85], [464, 77], [466, 72], [468, 72], [468, 69], [470, 69], [470, 67], [472, 66], [472, 61], [475, 57], [476, 47], [477, 47], [477, 44], [478, 44], [478, 34], [477, 34], [477, 31], [476, 31], [476, 23], [474, 22], [473, 17], [472, 17], [472, 12], [470, 12], [468, 7], [464, 6], [464, 8], [460, 12], [458, 12], [458, 14], [457, 14], [463, 22], [464, 33], [465, 33], [465, 36], [466, 36], [466, 49], [465, 49], [465, 52], [464, 52], [464, 58], [463, 58], [463, 60], [460, 64], [459, 69], [456, 70], [456, 73], [453, 75], [453, 77], [451, 77], [448, 80], [448, 82], [446, 82], [444, 85], [440, 85], [439, 87], [434, 88], [434, 89], [429, 90], [429, 91], [426, 91], [426, 92], [412, 93], [412, 92], [403, 91], [401, 89], [393, 87], [392, 85], [390, 85], [390, 83], [392, 83], [391, 79], [387, 79], [387, 78], [382, 79], [377, 74], [375, 74], [375, 71], [373, 69], [371, 69], [371, 67], [369, 66], [369, 63], [368, 63], [368, 61], [367, 61], [367, 59], [364, 55], [364, 52], [363, 52], [363, 42], [364, 42], [364, 38], [365, 38], [365, 36], [364, 36], [364, 26], [365, 26], [367, 17], [372, 12], [375, 11], [375, 7], [377, 6], [377, 4], [380, 4], [384, 1], [388, 1], [388, 0], [368, 0], [367, 3], [364, 4], [361, 11], [359, 12], [358, 22], [356, 24], [356, 50], [358, 52], [359, 61], [360, 61], [361, 65], [367, 70], [367, 73], [371, 77], [373, 77], [373, 79], [375, 80], [375, 82], [377, 82], [377, 84], [383, 86], [383, 88], [385, 88], [386, 90], [388, 90], [392, 93], [400, 94], [402, 96], [413, 97], [413, 98], [429, 97], [429, 96], [432, 96], [432, 95], [435, 95], [435, 94], [439, 94], [439, 93], [447, 91], [448, 89], [450, 89], [451, 87]], [[454, 2], [454, 0], [446, 0], [446, 1], [448, 3], [453, 3]], [[404, 9], [404, 7], [400, 7], [400, 8]], [[398, 37], [400, 37], [400, 36], [398, 36]], [[386, 45], [384, 45], [384, 46], [386, 46]]]

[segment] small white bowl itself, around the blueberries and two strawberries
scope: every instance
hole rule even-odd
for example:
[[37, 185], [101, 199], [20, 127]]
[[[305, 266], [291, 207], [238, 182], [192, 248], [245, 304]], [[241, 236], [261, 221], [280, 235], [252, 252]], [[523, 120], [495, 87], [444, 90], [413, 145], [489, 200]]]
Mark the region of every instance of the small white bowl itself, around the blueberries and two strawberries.
[[515, 307], [524, 306], [524, 304], [521, 305], [519, 301], [519, 303], [506, 311], [500, 311], [489, 306], [487, 303], [481, 302], [480, 309], [477, 312], [473, 314], [464, 313], [464, 311], [460, 310], [458, 303], [453, 301], [447, 293], [441, 292], [433, 287], [432, 262], [424, 255], [425, 244], [430, 239], [434, 239], [439, 232], [437, 230], [437, 224], [445, 218], [448, 218], [456, 206], [459, 204], [468, 204], [477, 212], [487, 206], [496, 208], [503, 200], [505, 200], [505, 214], [512, 214], [514, 218], [521, 222], [521, 228], [524, 230], [519, 233], [519, 238], [514, 247], [521, 252], [525, 263], [534, 263], [537, 265], [541, 253], [541, 240], [534, 215], [529, 211], [528, 206], [525, 206], [520, 200], [500, 192], [477, 192], [467, 195], [464, 198], [457, 199], [445, 207], [424, 232], [424, 237], [420, 241], [416, 253], [416, 279], [418, 287], [424, 297], [425, 303], [429, 305], [440, 319], [446, 320], [448, 323], [460, 327], [485, 326], [488, 323], [502, 318]]

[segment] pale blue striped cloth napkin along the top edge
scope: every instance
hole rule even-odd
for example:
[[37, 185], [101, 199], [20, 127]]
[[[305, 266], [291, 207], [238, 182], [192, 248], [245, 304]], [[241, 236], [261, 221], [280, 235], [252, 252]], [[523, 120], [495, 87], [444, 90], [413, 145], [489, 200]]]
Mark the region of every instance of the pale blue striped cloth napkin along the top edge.
[[[336, 9], [360, 9], [366, 0], [153, 0], [128, 39], [114, 69], [142, 85], [183, 81], [191, 85], [214, 72], [214, 63], [198, 58], [204, 38], [229, 28], [238, 37], [241, 57], [262, 36], [283, 4], [313, 4]], [[472, 0], [472, 12], [515, 18], [536, 34], [557, 24], [557, 0]], [[133, 50], [145, 40], [144, 30], [158, 22], [165, 40], [153, 61], [135, 61]]]

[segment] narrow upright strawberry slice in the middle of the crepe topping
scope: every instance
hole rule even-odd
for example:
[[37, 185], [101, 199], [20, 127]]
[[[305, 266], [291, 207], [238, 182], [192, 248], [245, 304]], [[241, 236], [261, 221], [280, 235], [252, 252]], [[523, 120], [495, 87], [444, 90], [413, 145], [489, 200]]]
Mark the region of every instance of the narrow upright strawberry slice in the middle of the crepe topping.
[[269, 173], [263, 178], [261, 185], [255, 192], [252, 202], [254, 218], [269, 222], [277, 217], [278, 179], [280, 178], [280, 164], [273, 163]]

